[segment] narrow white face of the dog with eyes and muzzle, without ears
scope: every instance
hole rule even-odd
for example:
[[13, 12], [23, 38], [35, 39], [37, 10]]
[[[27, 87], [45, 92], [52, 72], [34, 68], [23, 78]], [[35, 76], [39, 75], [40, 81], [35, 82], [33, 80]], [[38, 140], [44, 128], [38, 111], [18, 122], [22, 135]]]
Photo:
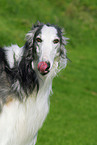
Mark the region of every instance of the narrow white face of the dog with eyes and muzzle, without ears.
[[60, 48], [60, 37], [54, 27], [43, 26], [35, 38], [36, 53], [39, 58], [38, 70], [41, 74], [47, 74], [53, 66], [54, 59]]

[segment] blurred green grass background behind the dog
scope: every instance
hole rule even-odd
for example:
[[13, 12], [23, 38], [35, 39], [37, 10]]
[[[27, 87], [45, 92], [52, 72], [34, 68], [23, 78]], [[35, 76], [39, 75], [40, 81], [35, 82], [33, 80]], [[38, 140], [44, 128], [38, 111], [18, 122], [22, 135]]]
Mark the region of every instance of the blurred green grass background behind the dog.
[[0, 46], [24, 45], [37, 20], [65, 29], [72, 61], [53, 81], [37, 145], [97, 145], [97, 0], [0, 0]]

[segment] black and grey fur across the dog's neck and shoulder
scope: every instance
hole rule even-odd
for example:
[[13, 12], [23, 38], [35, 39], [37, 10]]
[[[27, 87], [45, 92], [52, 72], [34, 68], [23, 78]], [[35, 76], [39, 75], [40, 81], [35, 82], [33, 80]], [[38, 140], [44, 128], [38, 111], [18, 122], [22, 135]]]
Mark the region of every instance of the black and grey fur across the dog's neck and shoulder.
[[[21, 62], [19, 64], [15, 63], [15, 66], [10, 68], [7, 64], [5, 51], [0, 48], [0, 99], [3, 102], [6, 102], [4, 99], [7, 100], [7, 96], [10, 93], [14, 93], [13, 96], [22, 101], [23, 98], [28, 97], [32, 93], [35, 87], [37, 91], [39, 90], [38, 78], [31, 65], [33, 61], [32, 49], [27, 43], [24, 49], [25, 52]], [[20, 90], [13, 88], [17, 81], [19, 82]]]

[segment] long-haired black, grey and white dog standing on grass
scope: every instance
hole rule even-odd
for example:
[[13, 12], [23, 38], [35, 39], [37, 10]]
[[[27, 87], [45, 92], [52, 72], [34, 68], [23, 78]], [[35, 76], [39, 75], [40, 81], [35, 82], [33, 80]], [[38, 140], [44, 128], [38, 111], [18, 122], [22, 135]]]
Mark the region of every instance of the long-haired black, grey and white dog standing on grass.
[[38, 22], [23, 47], [0, 48], [0, 145], [35, 145], [52, 80], [67, 65], [67, 39], [58, 26]]

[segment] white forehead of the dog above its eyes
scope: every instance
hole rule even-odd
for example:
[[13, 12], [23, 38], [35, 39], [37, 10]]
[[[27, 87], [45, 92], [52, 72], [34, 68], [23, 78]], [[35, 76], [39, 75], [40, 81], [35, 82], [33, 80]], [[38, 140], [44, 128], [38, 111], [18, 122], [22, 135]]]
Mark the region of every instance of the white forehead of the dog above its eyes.
[[46, 38], [48, 38], [49, 40], [54, 39], [55, 37], [58, 37], [57, 34], [58, 34], [57, 29], [52, 26], [44, 25], [41, 29], [42, 39], [46, 39]]

